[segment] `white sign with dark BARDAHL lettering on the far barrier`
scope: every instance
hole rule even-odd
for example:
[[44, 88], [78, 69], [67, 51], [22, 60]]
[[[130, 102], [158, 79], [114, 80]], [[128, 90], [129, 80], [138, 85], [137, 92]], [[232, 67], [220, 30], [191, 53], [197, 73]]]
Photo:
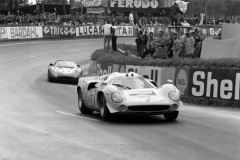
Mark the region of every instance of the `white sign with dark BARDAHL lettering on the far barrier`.
[[8, 39], [30, 39], [42, 38], [42, 27], [38, 26], [21, 26], [21, 27], [7, 27]]

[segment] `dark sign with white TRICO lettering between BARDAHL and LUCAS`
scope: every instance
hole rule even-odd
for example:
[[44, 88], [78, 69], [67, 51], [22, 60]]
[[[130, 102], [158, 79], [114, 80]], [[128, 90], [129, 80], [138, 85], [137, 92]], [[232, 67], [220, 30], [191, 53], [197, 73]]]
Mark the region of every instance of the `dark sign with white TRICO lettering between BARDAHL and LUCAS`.
[[43, 26], [44, 37], [73, 37], [76, 35], [72, 26]]

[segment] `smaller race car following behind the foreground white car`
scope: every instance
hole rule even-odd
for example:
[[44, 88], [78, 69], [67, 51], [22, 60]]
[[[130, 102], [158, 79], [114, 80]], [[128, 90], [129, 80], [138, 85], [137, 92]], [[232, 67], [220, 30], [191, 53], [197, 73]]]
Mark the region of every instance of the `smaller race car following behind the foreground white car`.
[[66, 60], [57, 60], [48, 66], [48, 80], [53, 81], [71, 81], [78, 83], [82, 70], [75, 62]]

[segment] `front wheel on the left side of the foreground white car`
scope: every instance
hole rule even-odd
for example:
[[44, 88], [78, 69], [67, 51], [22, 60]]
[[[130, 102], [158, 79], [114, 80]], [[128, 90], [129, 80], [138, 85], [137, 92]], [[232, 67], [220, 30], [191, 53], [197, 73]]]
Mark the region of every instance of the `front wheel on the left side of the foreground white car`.
[[104, 121], [109, 121], [111, 119], [111, 113], [108, 110], [106, 98], [104, 94], [101, 95], [101, 99], [100, 99], [100, 114], [101, 114], [102, 120]]

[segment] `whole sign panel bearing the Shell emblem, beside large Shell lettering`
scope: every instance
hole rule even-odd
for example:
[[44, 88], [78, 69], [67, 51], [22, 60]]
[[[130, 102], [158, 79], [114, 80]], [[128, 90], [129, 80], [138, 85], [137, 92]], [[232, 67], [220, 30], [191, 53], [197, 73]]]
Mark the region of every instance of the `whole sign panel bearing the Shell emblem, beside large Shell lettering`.
[[181, 96], [188, 96], [189, 68], [176, 68], [174, 84], [181, 92]]

